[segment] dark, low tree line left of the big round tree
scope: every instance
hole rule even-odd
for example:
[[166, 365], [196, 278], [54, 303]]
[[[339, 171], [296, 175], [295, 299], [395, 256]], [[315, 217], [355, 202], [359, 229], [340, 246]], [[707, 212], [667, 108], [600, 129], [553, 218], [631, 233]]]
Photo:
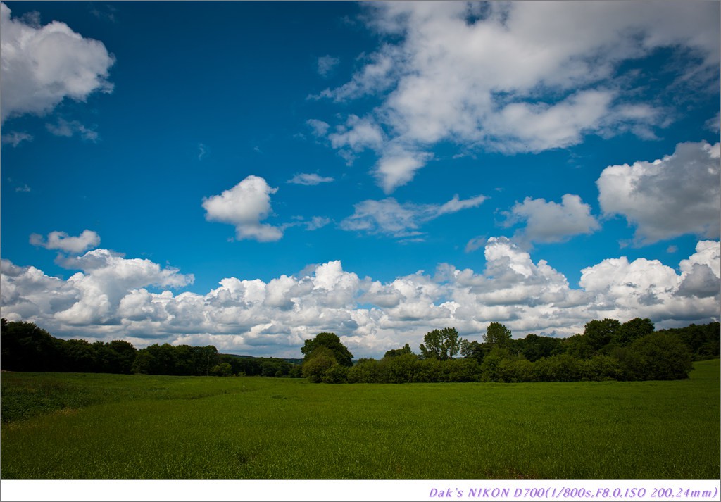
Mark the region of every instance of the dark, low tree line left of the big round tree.
[[124, 340], [89, 343], [55, 338], [32, 322], [0, 325], [0, 367], [9, 371], [74, 371], [184, 376], [301, 376], [301, 366], [280, 358], [220, 354], [213, 345], [136, 349]]

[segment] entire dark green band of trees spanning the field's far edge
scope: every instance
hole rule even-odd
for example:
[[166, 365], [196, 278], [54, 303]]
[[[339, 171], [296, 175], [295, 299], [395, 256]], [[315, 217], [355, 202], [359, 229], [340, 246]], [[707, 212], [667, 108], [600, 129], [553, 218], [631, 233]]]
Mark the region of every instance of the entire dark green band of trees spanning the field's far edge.
[[721, 326], [691, 324], [655, 330], [649, 319], [592, 320], [569, 338], [512, 338], [491, 322], [482, 340], [465, 340], [454, 327], [427, 333], [381, 359], [353, 359], [335, 333], [306, 340], [302, 359], [218, 353], [213, 345], [153, 344], [55, 338], [31, 322], [1, 321], [1, 368], [6, 371], [183, 376], [304, 377], [315, 383], [576, 382], [688, 378], [692, 361], [718, 358]]

